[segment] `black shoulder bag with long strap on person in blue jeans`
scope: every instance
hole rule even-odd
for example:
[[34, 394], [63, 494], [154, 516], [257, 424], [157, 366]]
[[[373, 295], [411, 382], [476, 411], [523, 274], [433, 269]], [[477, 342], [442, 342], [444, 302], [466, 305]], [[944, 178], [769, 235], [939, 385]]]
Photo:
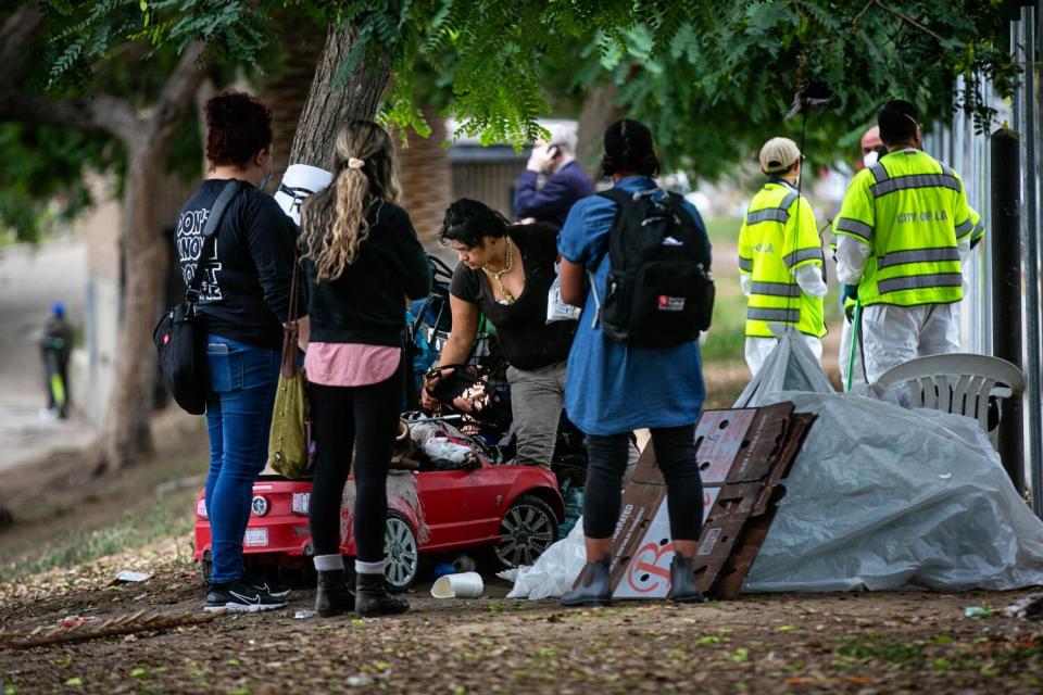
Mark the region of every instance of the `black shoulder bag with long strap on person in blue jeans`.
[[166, 388], [183, 409], [192, 415], [206, 412], [206, 395], [210, 392], [206, 374], [206, 356], [202, 351], [202, 331], [196, 315], [199, 287], [203, 281], [203, 266], [213, 255], [217, 227], [228, 203], [241, 190], [236, 179], [229, 180], [221, 190], [203, 228], [203, 248], [196, 264], [196, 274], [185, 292], [185, 301], [172, 306], [160, 318], [152, 331], [152, 340], [160, 356], [160, 371]]

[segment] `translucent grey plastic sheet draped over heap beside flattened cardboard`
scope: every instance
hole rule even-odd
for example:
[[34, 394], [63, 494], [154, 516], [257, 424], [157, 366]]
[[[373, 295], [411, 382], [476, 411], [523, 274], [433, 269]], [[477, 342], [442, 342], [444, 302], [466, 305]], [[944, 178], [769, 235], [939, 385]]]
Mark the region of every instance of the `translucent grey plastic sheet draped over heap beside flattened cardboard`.
[[973, 419], [851, 394], [775, 393], [818, 416], [744, 591], [1043, 584], [1043, 521]]

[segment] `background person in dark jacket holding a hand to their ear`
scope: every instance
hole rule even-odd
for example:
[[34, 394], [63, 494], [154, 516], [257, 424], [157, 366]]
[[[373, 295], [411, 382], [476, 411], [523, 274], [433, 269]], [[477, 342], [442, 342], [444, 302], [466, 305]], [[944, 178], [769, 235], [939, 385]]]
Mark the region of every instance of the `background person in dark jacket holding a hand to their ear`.
[[[576, 163], [576, 128], [552, 125], [551, 138], [532, 148], [514, 191], [513, 215], [523, 224], [541, 222], [561, 229], [568, 211], [580, 198], [593, 194], [594, 185]], [[540, 176], [546, 181], [538, 188]]]

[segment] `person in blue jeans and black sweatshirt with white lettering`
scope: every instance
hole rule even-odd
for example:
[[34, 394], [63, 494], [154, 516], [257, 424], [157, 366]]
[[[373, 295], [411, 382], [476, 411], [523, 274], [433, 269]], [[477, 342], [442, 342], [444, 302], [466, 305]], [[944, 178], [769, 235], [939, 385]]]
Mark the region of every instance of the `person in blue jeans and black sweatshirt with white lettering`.
[[[272, 173], [267, 106], [250, 94], [226, 91], [204, 111], [210, 176], [181, 208], [176, 232], [185, 285], [191, 287], [203, 274], [196, 315], [209, 371], [205, 504], [213, 534], [204, 609], [252, 612], [282, 607], [289, 594], [288, 587], [244, 573], [242, 539], [253, 482], [268, 454], [294, 230], [261, 190]], [[229, 186], [235, 195], [223, 198]], [[223, 210], [216, 232], [204, 240], [216, 207]]]

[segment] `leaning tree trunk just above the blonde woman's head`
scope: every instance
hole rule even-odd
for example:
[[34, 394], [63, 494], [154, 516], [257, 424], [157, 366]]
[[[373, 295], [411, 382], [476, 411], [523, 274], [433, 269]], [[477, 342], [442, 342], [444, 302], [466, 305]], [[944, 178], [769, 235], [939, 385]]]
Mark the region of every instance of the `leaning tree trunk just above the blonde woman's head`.
[[315, 68], [315, 78], [301, 113], [290, 152], [292, 164], [310, 164], [329, 169], [337, 131], [351, 121], [370, 119], [377, 113], [385, 87], [391, 76], [387, 56], [359, 61], [341, 89], [330, 91], [341, 63], [354, 43], [355, 31], [336, 31], [330, 27], [326, 46]]

